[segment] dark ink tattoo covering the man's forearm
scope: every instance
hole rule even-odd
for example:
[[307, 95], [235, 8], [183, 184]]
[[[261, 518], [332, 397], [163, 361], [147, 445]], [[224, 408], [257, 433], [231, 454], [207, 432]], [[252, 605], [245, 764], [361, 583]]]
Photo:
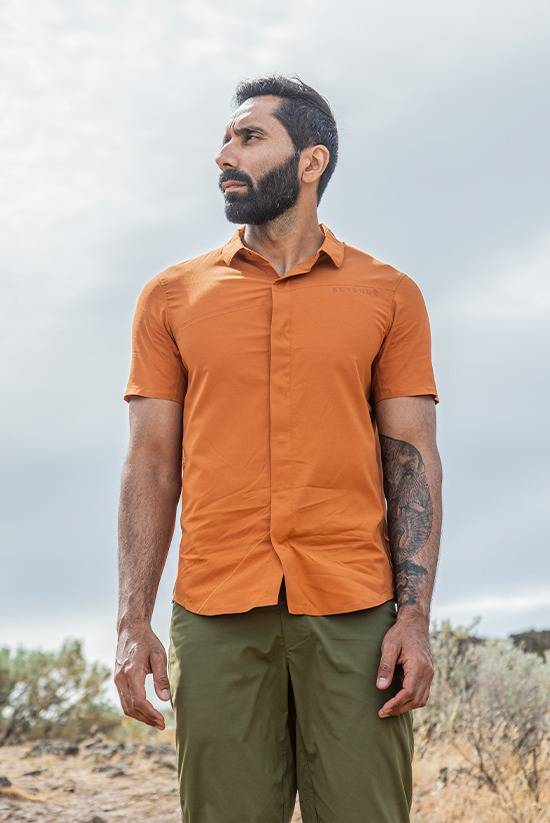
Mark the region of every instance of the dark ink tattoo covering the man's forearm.
[[[380, 436], [388, 532], [398, 608], [418, 601], [428, 569], [415, 562], [433, 524], [433, 505], [422, 455], [412, 443]], [[418, 558], [417, 558], [418, 559]]]

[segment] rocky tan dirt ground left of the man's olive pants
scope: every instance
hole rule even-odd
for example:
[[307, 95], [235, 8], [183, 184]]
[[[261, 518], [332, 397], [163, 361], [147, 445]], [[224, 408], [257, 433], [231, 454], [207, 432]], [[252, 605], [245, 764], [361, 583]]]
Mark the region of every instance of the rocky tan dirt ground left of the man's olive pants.
[[[181, 823], [175, 747], [155, 737], [0, 748], [0, 820]], [[297, 813], [293, 823], [300, 820]]]

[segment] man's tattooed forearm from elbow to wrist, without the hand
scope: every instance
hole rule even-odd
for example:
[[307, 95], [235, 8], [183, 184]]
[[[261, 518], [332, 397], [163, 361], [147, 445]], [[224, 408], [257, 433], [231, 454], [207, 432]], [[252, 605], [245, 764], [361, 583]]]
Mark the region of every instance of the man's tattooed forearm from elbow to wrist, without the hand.
[[388, 532], [401, 618], [429, 625], [441, 537], [441, 461], [437, 448], [380, 436]]

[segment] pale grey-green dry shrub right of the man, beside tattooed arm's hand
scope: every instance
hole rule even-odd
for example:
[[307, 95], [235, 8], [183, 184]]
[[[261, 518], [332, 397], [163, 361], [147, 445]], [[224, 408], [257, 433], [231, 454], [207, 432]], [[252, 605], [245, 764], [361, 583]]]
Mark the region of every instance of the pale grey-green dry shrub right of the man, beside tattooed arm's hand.
[[444, 739], [463, 756], [460, 771], [494, 792], [508, 819], [530, 819], [517, 798], [527, 793], [535, 809], [547, 770], [549, 653], [527, 653], [511, 638], [481, 642], [448, 621], [431, 632], [430, 643], [434, 680], [415, 717], [420, 754]]

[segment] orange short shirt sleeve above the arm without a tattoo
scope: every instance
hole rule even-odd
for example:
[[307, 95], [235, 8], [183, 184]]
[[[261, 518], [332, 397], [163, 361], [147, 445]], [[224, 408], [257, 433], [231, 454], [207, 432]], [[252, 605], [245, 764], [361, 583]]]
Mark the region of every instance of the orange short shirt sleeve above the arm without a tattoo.
[[184, 402], [187, 370], [170, 329], [160, 275], [141, 290], [132, 322], [132, 355], [124, 400], [132, 395]]

